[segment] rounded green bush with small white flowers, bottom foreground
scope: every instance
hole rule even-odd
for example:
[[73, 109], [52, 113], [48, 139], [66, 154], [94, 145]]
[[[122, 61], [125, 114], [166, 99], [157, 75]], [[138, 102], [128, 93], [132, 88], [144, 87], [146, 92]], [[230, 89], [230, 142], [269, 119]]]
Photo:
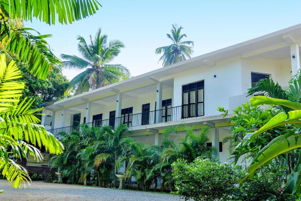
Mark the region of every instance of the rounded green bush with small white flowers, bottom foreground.
[[[191, 163], [178, 159], [173, 165], [175, 194], [185, 200], [220, 200], [239, 193], [235, 186], [237, 177], [244, 174], [240, 166], [219, 164], [209, 159], [197, 158]], [[232, 197], [234, 197], [232, 196]], [[230, 197], [231, 198], [231, 197]]]

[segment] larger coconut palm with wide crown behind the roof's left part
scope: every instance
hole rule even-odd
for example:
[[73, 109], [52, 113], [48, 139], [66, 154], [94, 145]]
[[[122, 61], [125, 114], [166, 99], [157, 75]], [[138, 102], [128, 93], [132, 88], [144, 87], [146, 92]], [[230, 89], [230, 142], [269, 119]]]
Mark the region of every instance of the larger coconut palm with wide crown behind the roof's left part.
[[85, 69], [75, 76], [66, 89], [66, 93], [75, 90], [75, 94], [87, 92], [90, 89], [97, 89], [131, 76], [129, 70], [121, 64], [109, 64], [119, 55], [120, 49], [124, 47], [119, 40], [107, 41], [107, 35], [101, 35], [101, 28], [98, 29], [94, 40], [90, 35], [90, 44], [86, 43], [84, 37], [79, 36], [78, 51], [82, 58], [76, 55], [61, 54], [64, 61], [64, 68], [77, 70]]

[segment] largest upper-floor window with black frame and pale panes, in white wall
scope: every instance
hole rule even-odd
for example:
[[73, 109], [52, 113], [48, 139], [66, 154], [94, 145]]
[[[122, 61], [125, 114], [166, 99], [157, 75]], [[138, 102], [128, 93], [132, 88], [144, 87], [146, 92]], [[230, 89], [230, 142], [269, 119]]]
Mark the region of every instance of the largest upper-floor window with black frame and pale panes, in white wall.
[[204, 81], [182, 86], [182, 118], [204, 115]]

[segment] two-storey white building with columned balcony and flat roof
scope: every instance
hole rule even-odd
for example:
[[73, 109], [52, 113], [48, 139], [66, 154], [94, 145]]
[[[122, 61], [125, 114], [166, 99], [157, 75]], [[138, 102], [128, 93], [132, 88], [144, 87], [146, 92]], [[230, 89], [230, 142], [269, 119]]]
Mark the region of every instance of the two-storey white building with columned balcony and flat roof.
[[[132, 131], [129, 136], [159, 145], [161, 133], [170, 125], [185, 122], [194, 125], [195, 132], [208, 125], [212, 127], [209, 139], [219, 149], [219, 142], [229, 135], [229, 126], [217, 107], [223, 106], [231, 114], [234, 108], [248, 101], [245, 93], [251, 83], [264, 77], [287, 86], [300, 68], [300, 44], [301, 24], [298, 24], [55, 103], [45, 103], [44, 113], [48, 117], [43, 116], [41, 124], [54, 134], [69, 131], [73, 115], [80, 113], [84, 123], [112, 126], [126, 123]], [[179, 132], [170, 137], [176, 141], [183, 135]], [[227, 144], [220, 151], [221, 161], [225, 162]]]

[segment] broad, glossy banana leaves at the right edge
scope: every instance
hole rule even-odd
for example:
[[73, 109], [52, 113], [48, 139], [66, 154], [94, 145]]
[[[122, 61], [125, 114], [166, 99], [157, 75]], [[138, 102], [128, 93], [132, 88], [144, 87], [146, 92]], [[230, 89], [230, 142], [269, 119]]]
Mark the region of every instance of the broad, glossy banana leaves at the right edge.
[[[259, 130], [254, 133], [247, 133], [244, 137], [244, 141], [242, 143], [248, 143], [254, 137], [259, 136], [260, 134], [268, 131], [272, 128], [279, 127], [281, 125], [294, 125], [296, 127], [300, 127], [301, 125], [301, 104], [298, 102], [291, 102], [289, 100], [283, 99], [274, 99], [265, 96], [254, 96], [250, 99], [251, 106], [258, 105], [281, 105], [287, 108], [290, 108], [292, 111], [289, 112], [280, 112], [270, 119], [265, 125], [263, 125]], [[290, 153], [293, 150], [298, 150], [299, 154], [301, 147], [301, 130], [297, 130], [296, 132], [290, 132], [275, 137], [270, 143], [268, 143], [264, 148], [262, 148], [256, 157], [251, 162], [247, 171], [249, 174], [245, 175], [243, 179], [239, 179], [238, 183], [243, 183], [246, 179], [253, 179], [254, 172], [262, 165], [269, 164], [276, 156], [280, 154]], [[240, 144], [237, 146], [237, 148]], [[297, 164], [290, 174], [288, 185], [284, 190], [286, 193], [292, 193], [295, 195], [299, 195], [301, 193], [301, 157], [299, 155], [299, 159]]]

